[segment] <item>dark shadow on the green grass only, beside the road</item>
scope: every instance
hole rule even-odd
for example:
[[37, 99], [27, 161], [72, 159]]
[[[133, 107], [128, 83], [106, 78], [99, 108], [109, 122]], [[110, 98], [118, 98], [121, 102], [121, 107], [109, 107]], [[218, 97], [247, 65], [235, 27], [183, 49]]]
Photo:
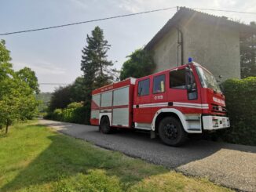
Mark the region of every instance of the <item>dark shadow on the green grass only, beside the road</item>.
[[[31, 128], [35, 127], [35, 125], [28, 125], [28, 127], [30, 126]], [[40, 127], [38, 129], [45, 128], [44, 125], [38, 126]], [[1, 191], [57, 183], [78, 174], [80, 176], [81, 174], [84, 176], [96, 174], [100, 180], [104, 177], [106, 185], [112, 183], [112, 179], [115, 178], [123, 190], [126, 190], [127, 187], [145, 177], [167, 172], [163, 167], [149, 166], [141, 160], [126, 158], [118, 152], [99, 150], [82, 140], [55, 132], [46, 138], [51, 141], [49, 147], [38, 154], [38, 157], [21, 170], [12, 181], [5, 184]], [[97, 172], [97, 170], [101, 170], [101, 172]], [[91, 177], [88, 178], [90, 180]], [[74, 179], [73, 182], [75, 182]]]

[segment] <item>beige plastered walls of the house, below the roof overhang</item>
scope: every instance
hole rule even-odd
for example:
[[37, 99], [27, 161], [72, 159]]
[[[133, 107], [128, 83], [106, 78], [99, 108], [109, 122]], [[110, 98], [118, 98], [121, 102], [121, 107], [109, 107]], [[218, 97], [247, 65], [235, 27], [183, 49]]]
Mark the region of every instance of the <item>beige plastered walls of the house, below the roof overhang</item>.
[[[184, 40], [184, 62], [192, 57], [211, 71], [219, 81], [240, 78], [240, 34], [218, 25], [209, 25], [198, 20], [181, 22]], [[155, 71], [177, 66], [177, 30], [166, 34], [153, 48]], [[181, 51], [180, 51], [181, 56]], [[179, 62], [180, 63], [180, 62]], [[218, 78], [222, 75], [222, 78]]]

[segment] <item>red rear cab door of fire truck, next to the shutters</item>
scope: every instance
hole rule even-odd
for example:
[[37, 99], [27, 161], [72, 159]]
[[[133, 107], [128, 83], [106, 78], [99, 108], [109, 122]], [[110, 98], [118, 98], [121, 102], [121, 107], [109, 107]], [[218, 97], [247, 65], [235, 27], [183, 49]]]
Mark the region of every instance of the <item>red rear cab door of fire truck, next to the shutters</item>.
[[136, 123], [151, 124], [151, 103], [152, 92], [151, 78], [137, 79], [134, 91], [133, 121]]

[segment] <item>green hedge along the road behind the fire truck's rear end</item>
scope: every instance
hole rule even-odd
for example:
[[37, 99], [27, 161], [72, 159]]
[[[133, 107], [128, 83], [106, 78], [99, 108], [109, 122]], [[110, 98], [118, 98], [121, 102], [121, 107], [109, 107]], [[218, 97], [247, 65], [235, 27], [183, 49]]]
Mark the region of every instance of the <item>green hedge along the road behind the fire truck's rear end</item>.
[[90, 106], [84, 106], [83, 103], [70, 103], [67, 108], [55, 109], [46, 114], [44, 118], [89, 125]]

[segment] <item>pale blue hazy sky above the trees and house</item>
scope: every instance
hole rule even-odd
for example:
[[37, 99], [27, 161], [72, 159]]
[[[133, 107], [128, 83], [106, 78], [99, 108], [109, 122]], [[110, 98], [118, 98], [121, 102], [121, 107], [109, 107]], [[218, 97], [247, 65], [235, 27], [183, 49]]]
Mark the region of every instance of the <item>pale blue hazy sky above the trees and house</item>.
[[[255, 0], [1, 0], [0, 33], [177, 5], [256, 12]], [[95, 26], [104, 30], [105, 38], [112, 45], [108, 58], [115, 62], [116, 68], [120, 69], [126, 56], [146, 45], [175, 12], [176, 9], [172, 9], [47, 31], [6, 35], [1, 36], [0, 39], [5, 39], [16, 70], [25, 66], [31, 67], [38, 76], [38, 82], [71, 83], [82, 74], [81, 50], [86, 45], [86, 34], [90, 34]], [[256, 20], [253, 14], [204, 12], [228, 16], [246, 24]], [[55, 87], [56, 85], [41, 85], [40, 89], [42, 92], [53, 92]]]

